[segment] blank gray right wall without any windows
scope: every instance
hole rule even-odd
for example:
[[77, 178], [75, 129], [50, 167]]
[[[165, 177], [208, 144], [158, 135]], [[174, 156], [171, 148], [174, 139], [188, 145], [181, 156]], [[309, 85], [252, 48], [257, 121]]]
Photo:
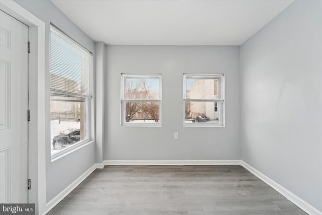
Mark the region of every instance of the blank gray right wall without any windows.
[[241, 159], [322, 211], [322, 1], [241, 45]]

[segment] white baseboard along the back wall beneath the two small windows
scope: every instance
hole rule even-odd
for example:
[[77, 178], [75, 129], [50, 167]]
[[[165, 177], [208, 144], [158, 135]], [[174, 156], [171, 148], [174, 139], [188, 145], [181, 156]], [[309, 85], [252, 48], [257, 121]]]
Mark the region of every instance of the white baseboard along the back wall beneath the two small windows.
[[240, 160], [105, 160], [104, 165], [240, 165]]

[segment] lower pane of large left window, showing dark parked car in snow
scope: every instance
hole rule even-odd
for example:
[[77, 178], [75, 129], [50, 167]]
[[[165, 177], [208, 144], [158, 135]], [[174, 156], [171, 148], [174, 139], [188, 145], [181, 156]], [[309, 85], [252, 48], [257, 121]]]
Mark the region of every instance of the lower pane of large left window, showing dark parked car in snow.
[[87, 99], [50, 97], [51, 154], [88, 138]]

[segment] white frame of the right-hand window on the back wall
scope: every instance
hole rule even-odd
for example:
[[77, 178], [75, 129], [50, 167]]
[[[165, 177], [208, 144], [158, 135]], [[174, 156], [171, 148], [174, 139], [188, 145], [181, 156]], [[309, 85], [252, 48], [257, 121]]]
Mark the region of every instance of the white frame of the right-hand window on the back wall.
[[[221, 98], [220, 99], [187, 99], [186, 95], [186, 79], [218, 79], [221, 83]], [[186, 102], [217, 102], [218, 122], [186, 122]], [[183, 126], [187, 127], [224, 127], [225, 126], [225, 77], [224, 74], [183, 74]]]

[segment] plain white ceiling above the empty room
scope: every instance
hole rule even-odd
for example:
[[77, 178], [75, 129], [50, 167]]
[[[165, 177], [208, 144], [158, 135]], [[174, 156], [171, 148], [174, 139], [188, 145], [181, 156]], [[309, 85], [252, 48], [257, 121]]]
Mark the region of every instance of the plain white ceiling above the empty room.
[[51, 0], [109, 45], [241, 45], [294, 0]]

